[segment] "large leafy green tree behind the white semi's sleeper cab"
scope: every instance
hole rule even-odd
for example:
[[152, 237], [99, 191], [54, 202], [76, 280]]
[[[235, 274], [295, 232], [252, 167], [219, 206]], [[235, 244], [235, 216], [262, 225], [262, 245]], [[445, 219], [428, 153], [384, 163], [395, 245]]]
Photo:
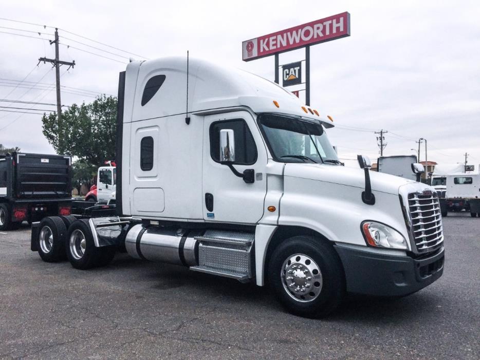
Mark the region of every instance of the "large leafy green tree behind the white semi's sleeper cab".
[[58, 154], [75, 156], [86, 164], [100, 166], [115, 160], [117, 98], [98, 97], [94, 102], [72, 104], [62, 111], [42, 117], [43, 135]]

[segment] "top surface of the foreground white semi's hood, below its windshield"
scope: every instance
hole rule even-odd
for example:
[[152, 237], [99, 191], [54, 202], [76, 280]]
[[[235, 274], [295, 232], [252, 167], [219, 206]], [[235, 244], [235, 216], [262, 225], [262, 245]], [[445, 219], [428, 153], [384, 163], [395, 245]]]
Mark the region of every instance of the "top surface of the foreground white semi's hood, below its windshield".
[[[339, 165], [287, 163], [285, 176], [325, 181], [345, 186], [365, 188], [365, 173], [363, 169]], [[416, 181], [398, 176], [370, 171], [372, 190], [398, 195], [399, 187], [405, 184], [417, 184]]]

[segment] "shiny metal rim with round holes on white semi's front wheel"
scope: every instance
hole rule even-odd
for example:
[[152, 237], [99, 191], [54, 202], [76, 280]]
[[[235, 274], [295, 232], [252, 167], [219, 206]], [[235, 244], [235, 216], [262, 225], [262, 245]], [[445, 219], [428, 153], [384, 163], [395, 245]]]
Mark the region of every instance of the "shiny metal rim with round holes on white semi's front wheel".
[[284, 290], [296, 301], [313, 301], [322, 291], [323, 278], [320, 267], [307, 255], [289, 256], [283, 262], [280, 276]]

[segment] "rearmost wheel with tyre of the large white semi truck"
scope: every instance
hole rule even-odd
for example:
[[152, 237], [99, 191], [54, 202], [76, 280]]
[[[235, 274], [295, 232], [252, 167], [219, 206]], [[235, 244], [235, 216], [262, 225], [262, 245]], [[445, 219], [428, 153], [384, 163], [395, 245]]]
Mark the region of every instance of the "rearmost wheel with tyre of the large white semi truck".
[[65, 259], [67, 228], [58, 216], [40, 221], [37, 249], [43, 261], [57, 262]]

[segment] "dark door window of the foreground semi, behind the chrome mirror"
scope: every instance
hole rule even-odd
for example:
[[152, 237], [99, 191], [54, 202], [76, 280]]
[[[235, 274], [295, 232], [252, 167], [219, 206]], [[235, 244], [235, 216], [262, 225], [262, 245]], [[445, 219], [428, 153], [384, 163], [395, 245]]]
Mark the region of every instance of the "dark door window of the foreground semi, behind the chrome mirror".
[[253, 165], [257, 159], [257, 151], [252, 133], [243, 119], [217, 121], [210, 125], [210, 156], [213, 161], [220, 162], [220, 130], [232, 129], [235, 132], [235, 164]]

